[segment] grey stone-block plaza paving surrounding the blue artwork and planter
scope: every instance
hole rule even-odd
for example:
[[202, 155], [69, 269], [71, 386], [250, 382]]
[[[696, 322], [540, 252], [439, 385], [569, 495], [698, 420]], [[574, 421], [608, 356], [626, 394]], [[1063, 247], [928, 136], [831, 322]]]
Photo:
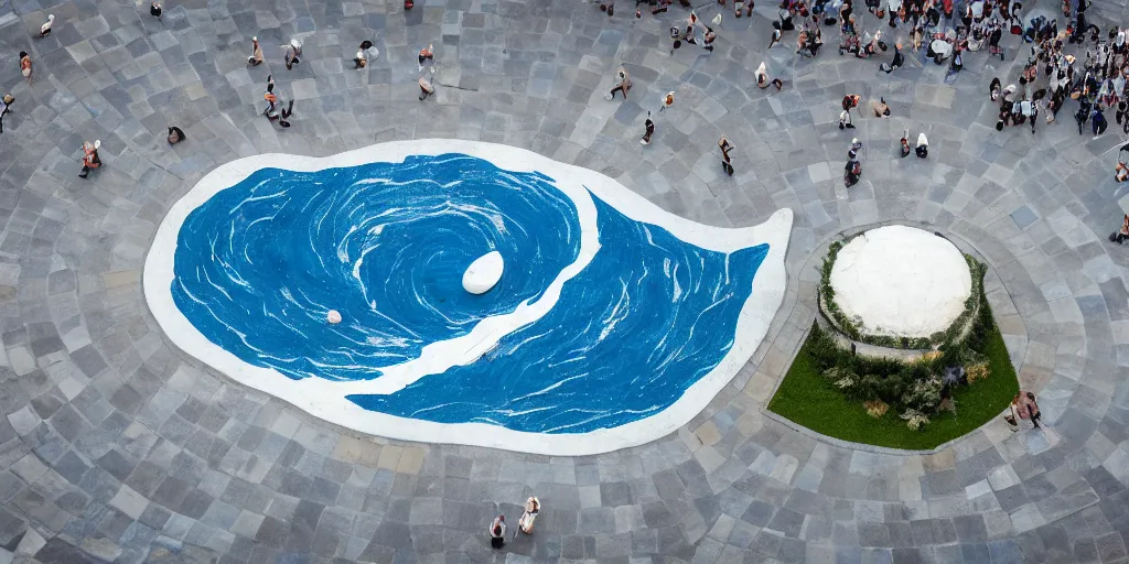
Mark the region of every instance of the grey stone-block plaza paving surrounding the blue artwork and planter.
[[[684, 11], [633, 21], [627, 2], [609, 21], [579, 0], [426, 0], [409, 14], [399, 0], [186, 0], [156, 20], [143, 5], [80, 0], [50, 7], [42, 41], [30, 32], [44, 7], [15, 2], [20, 19], [0, 18], [0, 85], [17, 98], [0, 135], [0, 562], [1129, 562], [1129, 255], [1105, 240], [1121, 221], [1120, 140], [1077, 135], [1069, 113], [1035, 135], [997, 133], [987, 85], [1014, 78], [1012, 60], [971, 54], [952, 85], [933, 64], [886, 76], [838, 56], [832, 32], [814, 61], [772, 50], [782, 92], [752, 88], [774, 12], [762, 3], [726, 19], [712, 55], [671, 56], [667, 21]], [[287, 72], [277, 46], [292, 33], [308, 35], [306, 59]], [[252, 35], [269, 65], [246, 68]], [[379, 59], [352, 70], [374, 36]], [[420, 103], [427, 43], [440, 86]], [[632, 98], [606, 102], [620, 63]], [[288, 131], [259, 116], [269, 72], [298, 100]], [[645, 111], [667, 90], [675, 105], [641, 148]], [[885, 96], [894, 117], [856, 117], [865, 170], [848, 192], [850, 135], [834, 121], [849, 91]], [[166, 124], [189, 141], [168, 148]], [[898, 158], [903, 127], [927, 132], [927, 160]], [[718, 174], [723, 132], [733, 178]], [[791, 208], [789, 290], [769, 336], [677, 433], [583, 458], [353, 437], [169, 344], [142, 261], [208, 170], [412, 138], [527, 147], [715, 226]], [[105, 166], [80, 180], [94, 139]], [[892, 455], [764, 413], [814, 315], [822, 248], [892, 221], [987, 258], [1052, 444], [995, 421], [936, 453]], [[546, 508], [535, 535], [491, 552], [497, 503], [514, 520], [530, 493]]]

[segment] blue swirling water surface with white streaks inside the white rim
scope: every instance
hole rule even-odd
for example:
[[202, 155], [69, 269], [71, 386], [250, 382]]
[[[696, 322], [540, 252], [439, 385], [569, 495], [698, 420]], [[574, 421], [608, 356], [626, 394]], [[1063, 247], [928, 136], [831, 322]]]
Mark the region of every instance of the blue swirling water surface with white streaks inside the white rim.
[[[466, 365], [348, 399], [544, 433], [615, 428], [674, 404], [733, 346], [768, 245], [703, 249], [590, 197], [601, 248], [546, 315]], [[577, 209], [552, 178], [464, 155], [261, 169], [185, 219], [172, 292], [196, 329], [244, 362], [292, 379], [366, 380], [541, 298], [579, 240]], [[506, 261], [501, 281], [465, 292], [463, 272], [491, 250]], [[344, 321], [327, 324], [330, 309]]]

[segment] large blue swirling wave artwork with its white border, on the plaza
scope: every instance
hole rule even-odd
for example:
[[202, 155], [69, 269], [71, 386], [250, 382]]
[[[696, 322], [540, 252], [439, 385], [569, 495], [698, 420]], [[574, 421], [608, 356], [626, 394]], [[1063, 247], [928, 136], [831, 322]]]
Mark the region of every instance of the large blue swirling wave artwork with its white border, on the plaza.
[[[675, 431], [749, 361], [790, 230], [694, 223], [506, 146], [263, 155], [173, 205], [145, 292], [189, 354], [335, 424], [590, 455]], [[464, 290], [492, 252], [497, 284]]]

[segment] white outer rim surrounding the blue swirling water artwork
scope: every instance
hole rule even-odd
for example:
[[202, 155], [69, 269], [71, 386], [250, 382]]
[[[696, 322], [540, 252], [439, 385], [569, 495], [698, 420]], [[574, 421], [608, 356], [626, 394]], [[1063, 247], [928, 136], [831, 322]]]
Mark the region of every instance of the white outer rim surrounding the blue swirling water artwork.
[[[500, 168], [515, 171], [540, 170], [557, 179], [558, 185], [562, 186], [574, 200], [576, 200], [576, 187], [587, 186], [594, 194], [629, 218], [660, 226], [680, 239], [703, 248], [733, 252], [768, 243], [769, 253], [753, 280], [752, 297], [745, 301], [737, 319], [733, 349], [712, 371], [691, 386], [677, 402], [650, 417], [588, 433], [530, 433], [483, 423], [434, 423], [366, 411], [345, 399], [345, 394], [334, 387], [335, 382], [314, 378], [296, 381], [272, 369], [242, 361], [208, 341], [174, 303], [170, 291], [174, 277], [173, 262], [177, 233], [185, 218], [212, 195], [238, 184], [255, 170], [275, 167], [314, 171], [368, 162], [401, 162], [412, 155], [448, 152], [479, 157]], [[566, 188], [566, 184], [570, 186]], [[585, 200], [587, 202], [576, 202], [578, 209], [592, 206], [590, 199]], [[176, 346], [240, 384], [277, 396], [331, 423], [364, 433], [409, 441], [470, 444], [550, 456], [585, 456], [644, 444], [676, 431], [704, 408], [737, 374], [764, 338], [769, 324], [784, 301], [787, 283], [784, 261], [791, 233], [791, 210], [782, 209], [755, 227], [723, 229], [703, 226], [663, 211], [603, 174], [566, 165], [525, 149], [446, 139], [395, 141], [325, 158], [270, 153], [246, 157], [220, 166], [176, 202], [161, 221], [146, 257], [142, 282], [149, 309]]]

